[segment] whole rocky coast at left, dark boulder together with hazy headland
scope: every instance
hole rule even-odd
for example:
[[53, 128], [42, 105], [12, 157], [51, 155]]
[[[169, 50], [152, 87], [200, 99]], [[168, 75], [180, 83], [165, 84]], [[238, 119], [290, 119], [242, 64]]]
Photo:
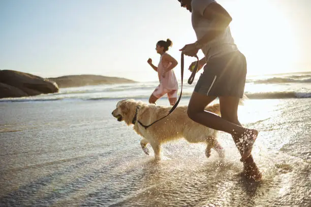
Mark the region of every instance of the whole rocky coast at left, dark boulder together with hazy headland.
[[136, 83], [136, 81], [99, 75], [42, 78], [19, 71], [0, 70], [0, 98], [57, 93], [59, 88], [121, 83]]

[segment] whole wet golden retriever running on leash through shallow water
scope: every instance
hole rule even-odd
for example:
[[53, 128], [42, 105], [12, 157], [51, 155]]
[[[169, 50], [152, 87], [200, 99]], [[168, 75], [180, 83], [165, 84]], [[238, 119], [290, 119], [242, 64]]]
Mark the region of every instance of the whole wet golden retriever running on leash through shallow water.
[[[177, 107], [168, 117], [154, 123], [147, 129], [138, 123], [139, 120], [142, 124], [149, 125], [167, 115], [170, 109], [171, 107], [125, 99], [118, 101], [112, 116], [118, 121], [125, 121], [127, 125], [134, 125], [133, 129], [143, 137], [140, 141], [142, 150], [149, 155], [146, 145], [150, 143], [154, 151], [154, 158], [157, 160], [161, 159], [160, 151], [163, 143], [182, 137], [190, 143], [206, 143], [206, 157], [210, 156], [211, 148], [213, 148], [220, 158], [224, 158], [223, 148], [216, 140], [218, 131], [192, 121], [187, 115], [187, 106]], [[205, 109], [220, 115], [219, 103], [207, 106]]]

